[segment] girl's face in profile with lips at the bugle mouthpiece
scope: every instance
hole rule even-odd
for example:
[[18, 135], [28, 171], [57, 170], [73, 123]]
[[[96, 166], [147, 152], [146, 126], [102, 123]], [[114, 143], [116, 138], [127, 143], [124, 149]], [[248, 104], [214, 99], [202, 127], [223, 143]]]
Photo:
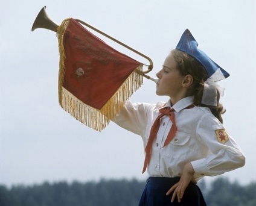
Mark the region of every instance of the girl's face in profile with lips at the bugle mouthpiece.
[[156, 73], [159, 78], [156, 84], [156, 95], [170, 96], [171, 103], [175, 104], [185, 97], [187, 89], [184, 87], [185, 78], [176, 69], [177, 63], [169, 54], [164, 61], [162, 69]]

